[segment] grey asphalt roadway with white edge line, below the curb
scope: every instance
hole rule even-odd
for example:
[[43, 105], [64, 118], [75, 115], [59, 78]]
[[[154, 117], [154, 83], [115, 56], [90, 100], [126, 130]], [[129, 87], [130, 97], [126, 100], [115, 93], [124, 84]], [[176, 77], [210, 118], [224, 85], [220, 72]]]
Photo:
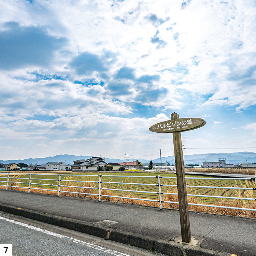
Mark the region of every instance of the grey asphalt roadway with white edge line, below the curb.
[[136, 247], [3, 212], [0, 227], [0, 256], [5, 255], [1, 244], [12, 244], [13, 256], [154, 256]]

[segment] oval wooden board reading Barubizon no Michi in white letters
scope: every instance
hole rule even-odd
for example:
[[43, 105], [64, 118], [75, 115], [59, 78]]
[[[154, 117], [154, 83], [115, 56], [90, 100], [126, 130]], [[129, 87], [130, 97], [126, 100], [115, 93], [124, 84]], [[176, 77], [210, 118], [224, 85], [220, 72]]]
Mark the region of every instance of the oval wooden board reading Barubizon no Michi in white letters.
[[179, 118], [174, 120], [167, 120], [155, 125], [152, 125], [149, 130], [158, 133], [171, 133], [180, 131], [190, 131], [204, 126], [206, 122], [204, 119], [196, 117]]

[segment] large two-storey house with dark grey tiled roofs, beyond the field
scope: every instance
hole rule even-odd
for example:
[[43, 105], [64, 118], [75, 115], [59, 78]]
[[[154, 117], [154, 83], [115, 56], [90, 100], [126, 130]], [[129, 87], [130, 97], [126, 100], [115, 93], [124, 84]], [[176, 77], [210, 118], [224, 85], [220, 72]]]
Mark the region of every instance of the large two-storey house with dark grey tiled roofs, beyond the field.
[[98, 171], [99, 166], [103, 167], [107, 165], [104, 158], [101, 157], [91, 157], [88, 160], [80, 159], [74, 161], [71, 165], [72, 171]]

